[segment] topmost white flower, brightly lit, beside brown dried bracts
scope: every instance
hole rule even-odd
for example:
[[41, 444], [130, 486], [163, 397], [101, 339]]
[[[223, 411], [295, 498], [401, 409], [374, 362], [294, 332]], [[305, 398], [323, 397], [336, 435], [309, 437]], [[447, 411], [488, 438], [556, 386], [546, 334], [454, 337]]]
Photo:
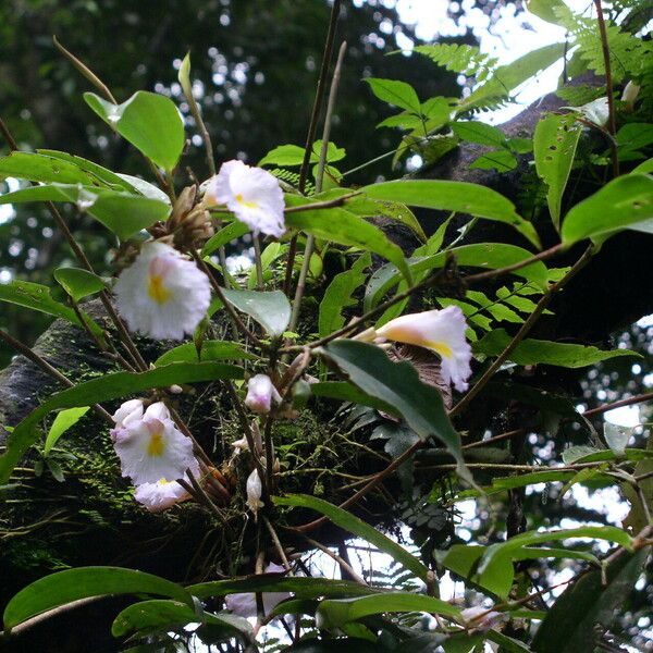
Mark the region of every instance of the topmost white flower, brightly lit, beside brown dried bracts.
[[209, 181], [207, 206], [226, 205], [255, 234], [280, 237], [285, 231], [283, 192], [279, 180], [262, 168], [227, 161]]

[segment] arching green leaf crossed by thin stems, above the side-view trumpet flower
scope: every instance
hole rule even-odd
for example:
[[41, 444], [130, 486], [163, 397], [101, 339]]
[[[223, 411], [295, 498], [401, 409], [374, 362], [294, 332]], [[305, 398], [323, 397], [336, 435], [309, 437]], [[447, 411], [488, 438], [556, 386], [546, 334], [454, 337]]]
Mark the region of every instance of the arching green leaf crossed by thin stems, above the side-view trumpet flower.
[[[475, 245], [463, 245], [448, 250], [456, 257], [458, 267], [482, 268], [484, 270], [496, 270], [513, 266], [530, 258], [532, 255], [527, 249], [504, 243], [478, 243]], [[444, 267], [447, 251], [424, 258], [409, 259], [409, 268], [414, 278], [421, 278], [424, 272]], [[549, 273], [542, 261], [529, 263], [523, 268], [514, 270], [512, 274], [521, 276], [532, 282], [542, 289], [549, 285]], [[375, 270], [365, 291], [364, 310], [368, 311], [383, 298], [383, 296], [399, 282], [399, 274], [392, 266], [383, 266]]]

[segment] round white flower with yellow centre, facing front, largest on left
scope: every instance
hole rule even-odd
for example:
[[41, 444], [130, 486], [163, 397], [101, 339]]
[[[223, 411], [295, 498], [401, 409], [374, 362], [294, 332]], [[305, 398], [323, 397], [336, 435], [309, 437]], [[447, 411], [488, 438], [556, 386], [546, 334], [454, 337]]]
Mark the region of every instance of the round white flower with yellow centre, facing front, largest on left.
[[211, 284], [197, 266], [163, 243], [146, 243], [114, 286], [120, 315], [132, 331], [182, 340], [211, 301]]

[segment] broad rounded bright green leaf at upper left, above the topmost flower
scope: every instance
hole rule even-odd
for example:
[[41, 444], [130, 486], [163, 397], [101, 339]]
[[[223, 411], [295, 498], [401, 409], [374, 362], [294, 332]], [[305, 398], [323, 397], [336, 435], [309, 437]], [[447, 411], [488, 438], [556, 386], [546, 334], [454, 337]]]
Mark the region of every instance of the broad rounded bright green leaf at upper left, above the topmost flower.
[[85, 93], [86, 103], [125, 140], [164, 170], [173, 170], [184, 149], [184, 121], [174, 102], [146, 90], [122, 104], [113, 104], [95, 93]]

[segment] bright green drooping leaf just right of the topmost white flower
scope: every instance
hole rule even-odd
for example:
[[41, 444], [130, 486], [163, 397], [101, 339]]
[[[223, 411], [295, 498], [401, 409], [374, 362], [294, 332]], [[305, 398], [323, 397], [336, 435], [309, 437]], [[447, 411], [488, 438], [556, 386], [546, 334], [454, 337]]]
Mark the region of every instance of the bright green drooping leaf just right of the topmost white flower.
[[286, 213], [286, 226], [313, 234], [340, 245], [360, 247], [392, 261], [404, 276], [410, 278], [404, 252], [373, 224], [344, 209], [307, 210]]

